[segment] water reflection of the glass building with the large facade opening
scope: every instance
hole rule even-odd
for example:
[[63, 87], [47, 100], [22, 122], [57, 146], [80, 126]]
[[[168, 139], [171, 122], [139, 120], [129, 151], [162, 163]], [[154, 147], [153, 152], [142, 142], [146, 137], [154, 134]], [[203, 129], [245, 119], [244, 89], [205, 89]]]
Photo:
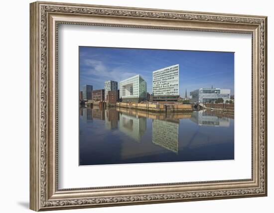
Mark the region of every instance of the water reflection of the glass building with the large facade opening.
[[129, 137], [140, 141], [146, 131], [146, 118], [121, 113], [119, 129]]

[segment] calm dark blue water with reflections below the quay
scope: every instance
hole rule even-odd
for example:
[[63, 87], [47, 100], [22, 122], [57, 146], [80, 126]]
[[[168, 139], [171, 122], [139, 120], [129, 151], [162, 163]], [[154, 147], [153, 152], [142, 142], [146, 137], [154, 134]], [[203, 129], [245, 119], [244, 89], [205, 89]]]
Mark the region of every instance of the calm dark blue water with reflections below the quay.
[[80, 108], [80, 165], [234, 159], [234, 116]]

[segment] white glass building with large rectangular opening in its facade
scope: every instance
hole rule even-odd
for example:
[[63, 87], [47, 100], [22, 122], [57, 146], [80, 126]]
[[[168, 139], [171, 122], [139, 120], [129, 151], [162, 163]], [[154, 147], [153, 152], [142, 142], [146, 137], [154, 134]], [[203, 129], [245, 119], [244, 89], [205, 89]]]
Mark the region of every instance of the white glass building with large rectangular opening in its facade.
[[119, 89], [123, 102], [140, 102], [146, 99], [146, 82], [140, 75], [120, 81]]

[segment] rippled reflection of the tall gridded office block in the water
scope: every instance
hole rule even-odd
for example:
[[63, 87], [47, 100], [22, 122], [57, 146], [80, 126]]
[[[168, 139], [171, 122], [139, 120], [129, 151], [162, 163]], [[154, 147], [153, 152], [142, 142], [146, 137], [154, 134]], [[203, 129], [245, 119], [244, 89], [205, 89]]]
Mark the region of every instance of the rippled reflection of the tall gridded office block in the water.
[[179, 121], [152, 120], [152, 143], [178, 153]]

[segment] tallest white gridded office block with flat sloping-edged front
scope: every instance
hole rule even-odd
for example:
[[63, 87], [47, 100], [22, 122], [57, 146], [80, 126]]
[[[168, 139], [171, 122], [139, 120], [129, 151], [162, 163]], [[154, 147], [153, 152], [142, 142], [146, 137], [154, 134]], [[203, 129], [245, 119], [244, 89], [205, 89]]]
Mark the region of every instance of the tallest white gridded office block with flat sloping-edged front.
[[179, 98], [179, 64], [153, 71], [153, 101], [177, 101]]

